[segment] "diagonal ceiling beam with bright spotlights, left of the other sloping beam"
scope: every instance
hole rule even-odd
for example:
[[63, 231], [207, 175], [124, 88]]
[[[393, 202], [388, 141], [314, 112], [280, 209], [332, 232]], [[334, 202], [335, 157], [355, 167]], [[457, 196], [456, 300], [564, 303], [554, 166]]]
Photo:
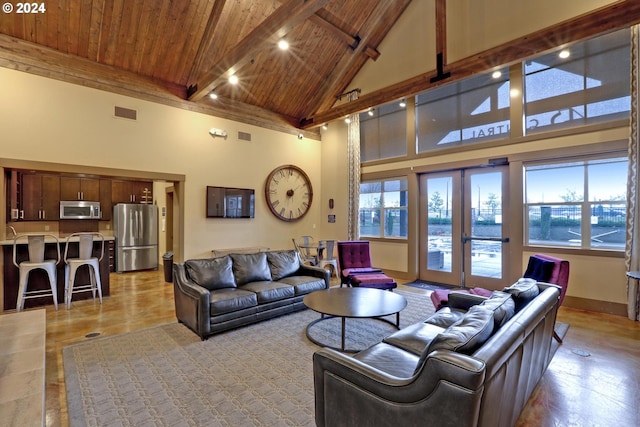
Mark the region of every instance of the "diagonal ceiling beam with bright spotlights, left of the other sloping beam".
[[226, 81], [236, 70], [248, 64], [254, 53], [266, 44], [276, 43], [293, 27], [305, 21], [328, 0], [288, 0], [234, 46], [209, 71], [200, 76], [197, 88], [189, 96], [198, 101]]

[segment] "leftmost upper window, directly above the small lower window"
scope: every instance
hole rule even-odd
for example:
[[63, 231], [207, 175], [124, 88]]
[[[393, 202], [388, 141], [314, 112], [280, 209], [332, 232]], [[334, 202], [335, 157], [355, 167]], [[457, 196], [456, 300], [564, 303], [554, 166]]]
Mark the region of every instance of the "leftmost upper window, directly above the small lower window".
[[[402, 105], [401, 105], [402, 104]], [[360, 114], [360, 161], [407, 155], [405, 103], [394, 102]]]

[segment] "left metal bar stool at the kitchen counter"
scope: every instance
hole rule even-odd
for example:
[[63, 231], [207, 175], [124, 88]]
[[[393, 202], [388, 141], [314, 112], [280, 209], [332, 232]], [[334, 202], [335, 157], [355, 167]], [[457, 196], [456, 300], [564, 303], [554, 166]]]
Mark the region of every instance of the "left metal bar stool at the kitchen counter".
[[[44, 243], [45, 237], [49, 237], [54, 240], [56, 244], [56, 250], [58, 252], [58, 259], [44, 259]], [[17, 246], [20, 240], [27, 241], [27, 248], [29, 251], [29, 259], [18, 263], [17, 261]], [[58, 310], [58, 288], [57, 288], [57, 274], [56, 265], [60, 262], [60, 245], [58, 244], [58, 238], [53, 234], [21, 234], [13, 238], [13, 264], [20, 270], [19, 284], [18, 284], [18, 302], [16, 304], [16, 311], [20, 311], [24, 308], [24, 300], [29, 298], [41, 298], [45, 296], [53, 297], [53, 305]], [[29, 281], [29, 273], [33, 270], [44, 270], [49, 277], [49, 285], [51, 290], [33, 290], [27, 291], [27, 282]]]

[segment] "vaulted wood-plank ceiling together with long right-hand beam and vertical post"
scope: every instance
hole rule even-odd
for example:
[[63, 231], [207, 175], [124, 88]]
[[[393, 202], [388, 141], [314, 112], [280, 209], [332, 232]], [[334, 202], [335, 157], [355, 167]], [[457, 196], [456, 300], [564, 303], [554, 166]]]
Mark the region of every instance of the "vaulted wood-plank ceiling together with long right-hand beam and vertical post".
[[[46, 11], [0, 15], [0, 66], [317, 137], [326, 121], [441, 84], [432, 78], [442, 72], [448, 81], [463, 78], [640, 21], [640, 2], [621, 0], [336, 104], [362, 66], [381, 55], [378, 46], [410, 2], [48, 1], [37, 3]], [[434, 43], [446, 58], [446, 0], [435, 4]], [[282, 38], [286, 51], [277, 48]]]

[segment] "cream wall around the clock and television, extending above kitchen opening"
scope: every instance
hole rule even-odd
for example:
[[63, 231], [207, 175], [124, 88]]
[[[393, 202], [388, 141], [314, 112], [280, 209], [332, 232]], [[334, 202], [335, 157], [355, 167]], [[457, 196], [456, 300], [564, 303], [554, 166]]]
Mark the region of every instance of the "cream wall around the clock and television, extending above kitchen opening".
[[[209, 256], [214, 248], [291, 248], [291, 237], [315, 234], [320, 223], [319, 141], [6, 68], [0, 68], [0, 93], [0, 157], [184, 174], [185, 258]], [[138, 120], [115, 118], [116, 105], [136, 109]], [[229, 137], [212, 138], [212, 127]], [[238, 131], [252, 141], [238, 141]], [[269, 172], [283, 164], [307, 172], [317, 200], [295, 223], [276, 219], [264, 198]], [[255, 189], [256, 218], [205, 218], [207, 185]]]

